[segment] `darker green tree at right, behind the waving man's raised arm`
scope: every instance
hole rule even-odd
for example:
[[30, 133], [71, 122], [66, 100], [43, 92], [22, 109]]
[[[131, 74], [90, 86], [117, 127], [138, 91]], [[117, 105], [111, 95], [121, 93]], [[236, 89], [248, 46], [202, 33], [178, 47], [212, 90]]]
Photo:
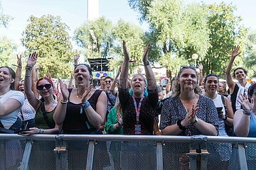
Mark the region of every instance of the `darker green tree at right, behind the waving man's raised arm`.
[[[210, 29], [210, 47], [203, 58], [206, 74], [215, 73], [224, 76], [228, 66], [233, 45], [239, 44], [243, 49], [247, 30], [241, 25], [241, 18], [234, 15], [236, 8], [224, 3], [208, 5], [208, 28]], [[242, 67], [242, 57], [235, 60], [235, 65]]]

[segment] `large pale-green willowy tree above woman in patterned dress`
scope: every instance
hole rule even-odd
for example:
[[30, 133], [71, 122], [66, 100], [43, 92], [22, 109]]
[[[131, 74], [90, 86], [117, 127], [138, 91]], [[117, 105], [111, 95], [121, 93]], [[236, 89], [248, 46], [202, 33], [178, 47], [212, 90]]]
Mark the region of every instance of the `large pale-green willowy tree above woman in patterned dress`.
[[180, 0], [132, 0], [129, 4], [140, 10], [142, 21], [149, 23], [150, 30], [146, 37], [149, 36], [147, 39], [154, 42], [149, 60], [164, 66], [173, 64], [174, 57], [171, 58], [171, 55], [176, 56], [177, 61], [188, 62], [193, 62], [193, 53], [202, 57], [206, 55], [210, 43], [207, 11], [203, 6], [191, 4], [184, 7]]

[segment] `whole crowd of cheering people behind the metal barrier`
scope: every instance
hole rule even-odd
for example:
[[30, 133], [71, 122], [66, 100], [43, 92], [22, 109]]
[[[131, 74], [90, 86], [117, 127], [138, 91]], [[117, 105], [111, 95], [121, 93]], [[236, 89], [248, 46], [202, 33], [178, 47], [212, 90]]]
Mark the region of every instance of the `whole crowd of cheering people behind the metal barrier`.
[[[78, 64], [68, 86], [50, 77], [38, 78], [36, 52], [29, 55], [25, 79], [21, 79], [21, 55], [17, 55], [17, 69], [0, 67], [0, 126], [21, 130], [20, 135], [32, 134], [118, 134], [118, 135], [219, 135], [256, 137], [256, 84], [246, 81], [247, 72], [231, 69], [240, 54], [233, 47], [225, 70], [223, 85], [216, 74], [203, 77], [196, 67], [181, 66], [177, 77], [166, 87], [161, 104], [161, 118], [157, 107], [163, 96], [156, 84], [148, 60], [150, 44], [142, 55], [145, 76], [129, 77], [129, 52], [123, 42], [124, 62], [114, 77], [101, 77], [100, 87], [92, 85], [92, 69]], [[200, 65], [200, 73], [203, 66]], [[112, 150], [122, 146], [112, 142]], [[142, 152], [151, 152], [147, 145], [126, 145]], [[228, 149], [230, 149], [228, 147]], [[111, 149], [110, 149], [111, 150]], [[132, 153], [131, 153], [132, 154]], [[119, 159], [114, 164], [119, 168]], [[124, 159], [124, 158], [123, 158]], [[129, 166], [132, 166], [129, 165]]]

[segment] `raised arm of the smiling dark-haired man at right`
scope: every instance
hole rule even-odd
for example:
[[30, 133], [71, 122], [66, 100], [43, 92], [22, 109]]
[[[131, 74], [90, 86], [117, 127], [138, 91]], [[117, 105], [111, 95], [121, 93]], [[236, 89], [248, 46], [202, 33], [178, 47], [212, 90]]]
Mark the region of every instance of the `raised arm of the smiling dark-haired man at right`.
[[235, 45], [232, 48], [230, 62], [228, 63], [228, 67], [225, 70], [225, 80], [228, 84], [228, 88], [230, 89], [230, 94], [233, 94], [233, 91], [235, 89], [235, 82], [233, 81], [232, 76], [231, 76], [231, 69], [232, 69], [233, 63], [235, 61], [235, 57], [237, 57], [241, 53], [241, 52], [239, 52], [239, 48], [240, 48], [239, 45]]

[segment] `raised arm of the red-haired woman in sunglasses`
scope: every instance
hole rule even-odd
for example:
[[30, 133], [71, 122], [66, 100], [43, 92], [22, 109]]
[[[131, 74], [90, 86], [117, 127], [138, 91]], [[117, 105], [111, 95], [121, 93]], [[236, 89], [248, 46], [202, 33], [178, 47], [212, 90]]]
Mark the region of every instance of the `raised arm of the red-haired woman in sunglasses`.
[[28, 98], [29, 103], [31, 106], [36, 110], [38, 108], [38, 99], [36, 98], [35, 94], [31, 90], [31, 74], [33, 66], [36, 64], [38, 54], [36, 52], [33, 52], [28, 57], [28, 62], [26, 65], [26, 73], [25, 73], [25, 80], [24, 80], [24, 89], [26, 97]]

